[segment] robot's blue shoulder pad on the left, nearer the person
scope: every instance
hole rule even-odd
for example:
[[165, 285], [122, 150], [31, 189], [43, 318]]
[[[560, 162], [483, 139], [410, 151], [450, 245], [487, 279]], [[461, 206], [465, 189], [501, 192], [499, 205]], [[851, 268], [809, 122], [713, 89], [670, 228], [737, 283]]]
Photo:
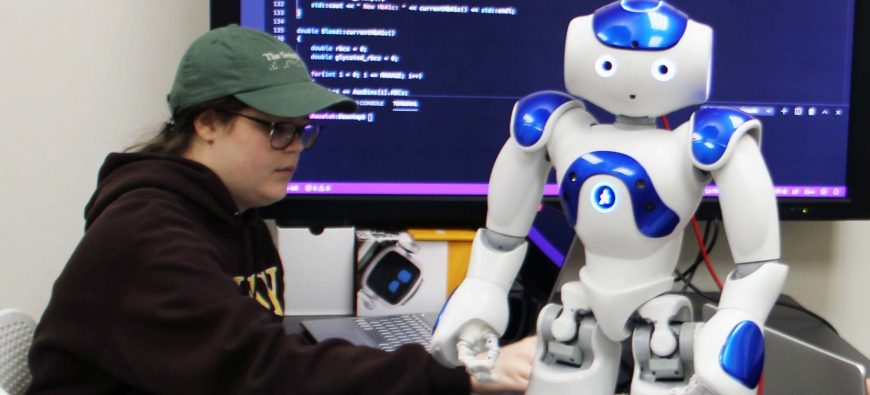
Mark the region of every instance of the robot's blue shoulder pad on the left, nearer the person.
[[540, 91], [523, 97], [514, 108], [511, 135], [524, 148], [534, 146], [544, 136], [547, 121], [553, 113], [563, 104], [575, 100], [571, 95], [557, 91]]

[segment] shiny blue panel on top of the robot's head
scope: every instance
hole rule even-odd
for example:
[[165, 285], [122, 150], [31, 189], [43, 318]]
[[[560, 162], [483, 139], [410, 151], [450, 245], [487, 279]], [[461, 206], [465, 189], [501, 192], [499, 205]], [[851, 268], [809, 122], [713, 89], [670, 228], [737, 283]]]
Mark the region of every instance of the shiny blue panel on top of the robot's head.
[[689, 17], [658, 0], [620, 0], [599, 8], [592, 18], [595, 36], [604, 45], [665, 50], [680, 42]]

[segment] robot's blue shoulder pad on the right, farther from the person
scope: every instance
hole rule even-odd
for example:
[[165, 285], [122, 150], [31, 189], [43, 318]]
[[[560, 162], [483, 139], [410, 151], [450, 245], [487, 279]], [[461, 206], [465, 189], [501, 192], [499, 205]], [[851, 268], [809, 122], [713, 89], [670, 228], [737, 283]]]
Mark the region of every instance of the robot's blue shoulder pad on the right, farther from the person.
[[736, 137], [754, 133], [760, 143], [761, 123], [751, 115], [728, 107], [707, 107], [695, 113], [692, 124], [692, 157], [695, 165], [712, 170], [724, 163]]

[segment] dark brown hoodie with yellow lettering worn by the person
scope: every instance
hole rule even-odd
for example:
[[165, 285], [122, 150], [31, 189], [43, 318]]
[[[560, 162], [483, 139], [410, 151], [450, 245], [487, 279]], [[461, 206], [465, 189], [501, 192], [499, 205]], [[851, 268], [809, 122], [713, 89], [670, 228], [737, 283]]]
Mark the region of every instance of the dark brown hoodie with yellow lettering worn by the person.
[[30, 353], [31, 394], [468, 394], [420, 346], [307, 344], [254, 210], [205, 166], [111, 154]]

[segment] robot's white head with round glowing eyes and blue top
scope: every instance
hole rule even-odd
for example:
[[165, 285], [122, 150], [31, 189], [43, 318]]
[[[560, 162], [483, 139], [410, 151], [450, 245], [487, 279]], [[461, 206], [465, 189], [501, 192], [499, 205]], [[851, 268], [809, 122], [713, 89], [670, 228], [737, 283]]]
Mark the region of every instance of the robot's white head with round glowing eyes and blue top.
[[574, 18], [568, 92], [617, 115], [658, 117], [707, 101], [713, 30], [657, 0], [621, 0]]

